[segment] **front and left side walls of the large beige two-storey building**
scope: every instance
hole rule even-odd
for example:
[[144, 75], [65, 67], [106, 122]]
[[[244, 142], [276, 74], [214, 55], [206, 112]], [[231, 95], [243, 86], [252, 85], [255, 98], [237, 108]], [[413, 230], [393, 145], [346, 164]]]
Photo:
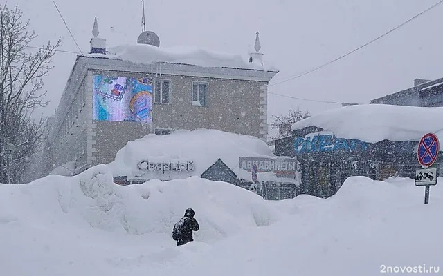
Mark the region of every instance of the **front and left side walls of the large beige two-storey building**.
[[[266, 141], [266, 84], [276, 72], [173, 63], [162, 63], [160, 68], [159, 64], [78, 57], [48, 128], [45, 175], [68, 161], [77, 161], [80, 166], [106, 164], [127, 141], [156, 128], [213, 128]], [[168, 74], [161, 74], [165, 72]], [[153, 124], [148, 127], [135, 122], [93, 121], [94, 74], [168, 79], [170, 104], [154, 104]], [[209, 106], [192, 105], [192, 81], [208, 83]]]

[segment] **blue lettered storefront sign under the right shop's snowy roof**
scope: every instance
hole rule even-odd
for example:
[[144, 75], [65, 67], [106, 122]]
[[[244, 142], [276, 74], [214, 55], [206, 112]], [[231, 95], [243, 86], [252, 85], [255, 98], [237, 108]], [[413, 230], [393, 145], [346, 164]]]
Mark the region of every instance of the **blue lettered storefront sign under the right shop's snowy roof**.
[[297, 137], [293, 144], [296, 155], [313, 152], [355, 152], [369, 149], [366, 142], [356, 139], [337, 138], [335, 135], [311, 135]]

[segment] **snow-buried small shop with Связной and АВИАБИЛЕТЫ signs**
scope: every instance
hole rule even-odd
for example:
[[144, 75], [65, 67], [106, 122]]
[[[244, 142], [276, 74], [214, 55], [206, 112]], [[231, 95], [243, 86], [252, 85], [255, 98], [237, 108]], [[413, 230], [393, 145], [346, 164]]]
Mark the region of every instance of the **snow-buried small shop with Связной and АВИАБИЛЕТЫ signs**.
[[269, 200], [293, 198], [300, 193], [296, 158], [273, 155], [257, 137], [220, 130], [147, 135], [129, 141], [107, 166], [119, 185], [199, 176], [246, 188]]

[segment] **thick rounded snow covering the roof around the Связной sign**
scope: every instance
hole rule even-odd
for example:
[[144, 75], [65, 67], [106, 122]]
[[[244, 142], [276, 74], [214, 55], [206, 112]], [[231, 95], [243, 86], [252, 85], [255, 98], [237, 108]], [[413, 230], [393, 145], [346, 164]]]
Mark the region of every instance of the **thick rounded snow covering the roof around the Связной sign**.
[[[275, 155], [264, 141], [256, 137], [220, 130], [177, 130], [170, 135], [150, 134], [129, 141], [117, 152], [115, 161], [107, 166], [114, 176], [166, 180], [199, 176], [219, 158], [237, 173], [239, 157], [275, 157]], [[138, 162], [146, 159], [150, 162], [192, 161], [193, 171], [143, 172], [138, 169]]]

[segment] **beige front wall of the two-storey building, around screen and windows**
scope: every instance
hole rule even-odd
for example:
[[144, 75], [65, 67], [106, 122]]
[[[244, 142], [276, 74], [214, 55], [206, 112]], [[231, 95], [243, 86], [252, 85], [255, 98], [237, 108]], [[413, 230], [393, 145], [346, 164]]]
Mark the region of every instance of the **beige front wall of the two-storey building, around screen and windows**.
[[[107, 164], [115, 159], [127, 141], [141, 138], [154, 129], [217, 129], [243, 135], [267, 135], [267, 86], [260, 81], [147, 75], [131, 72], [91, 71], [88, 73], [88, 104], [92, 116], [92, 75], [150, 77], [171, 81], [170, 103], [153, 107], [151, 127], [136, 122], [93, 121], [89, 126], [88, 158], [90, 164]], [[192, 83], [208, 83], [208, 106], [192, 105]], [[87, 94], [88, 94], [87, 93]], [[89, 102], [90, 101], [90, 102]], [[91, 120], [90, 120], [91, 121]]]

